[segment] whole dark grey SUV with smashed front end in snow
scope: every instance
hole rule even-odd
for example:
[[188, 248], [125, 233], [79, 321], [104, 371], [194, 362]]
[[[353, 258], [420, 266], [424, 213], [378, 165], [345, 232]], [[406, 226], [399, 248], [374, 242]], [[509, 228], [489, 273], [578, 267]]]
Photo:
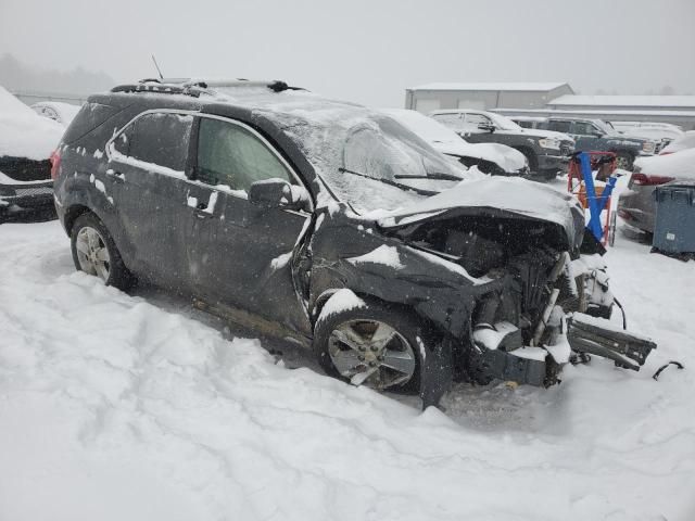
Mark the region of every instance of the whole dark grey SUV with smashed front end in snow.
[[[55, 157], [78, 269], [141, 278], [313, 348], [353, 384], [558, 381], [572, 351], [639, 369], [570, 196], [467, 179], [389, 116], [274, 82], [92, 96]], [[584, 249], [584, 250], [583, 250]]]

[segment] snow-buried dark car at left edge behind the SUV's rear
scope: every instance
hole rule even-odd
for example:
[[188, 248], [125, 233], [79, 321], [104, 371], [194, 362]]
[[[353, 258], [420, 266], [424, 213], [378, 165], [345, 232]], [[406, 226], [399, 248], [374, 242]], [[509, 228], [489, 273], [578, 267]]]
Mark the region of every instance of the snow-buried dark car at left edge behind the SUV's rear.
[[63, 130], [0, 87], [0, 219], [53, 212], [49, 157]]

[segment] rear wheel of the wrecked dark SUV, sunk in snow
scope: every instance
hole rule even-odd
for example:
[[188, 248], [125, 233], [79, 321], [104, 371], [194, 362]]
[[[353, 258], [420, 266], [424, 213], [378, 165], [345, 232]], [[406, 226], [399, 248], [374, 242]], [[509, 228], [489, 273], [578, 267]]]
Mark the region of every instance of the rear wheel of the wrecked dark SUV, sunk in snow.
[[127, 290], [135, 283], [111, 233], [94, 214], [77, 217], [71, 230], [71, 250], [79, 271], [99, 277], [106, 285], [119, 290]]

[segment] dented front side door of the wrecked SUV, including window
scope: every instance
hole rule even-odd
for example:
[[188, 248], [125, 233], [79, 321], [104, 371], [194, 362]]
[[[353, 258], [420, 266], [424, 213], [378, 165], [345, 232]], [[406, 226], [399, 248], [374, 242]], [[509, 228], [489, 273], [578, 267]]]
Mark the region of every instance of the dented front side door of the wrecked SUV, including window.
[[203, 116], [197, 142], [188, 251], [197, 291], [207, 301], [308, 333], [292, 265], [311, 208], [265, 208], [248, 200], [253, 182], [279, 178], [301, 186], [301, 180], [260, 134], [242, 123]]

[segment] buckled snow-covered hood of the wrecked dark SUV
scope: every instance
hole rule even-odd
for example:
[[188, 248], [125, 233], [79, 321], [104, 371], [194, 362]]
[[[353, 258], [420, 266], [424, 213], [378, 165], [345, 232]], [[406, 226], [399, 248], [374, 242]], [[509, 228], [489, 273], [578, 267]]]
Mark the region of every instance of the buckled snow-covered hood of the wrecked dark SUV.
[[378, 224], [383, 228], [399, 228], [452, 213], [491, 213], [549, 223], [563, 230], [568, 247], [579, 246], [583, 237], [584, 212], [572, 194], [519, 178], [463, 181], [450, 190], [391, 212]]

